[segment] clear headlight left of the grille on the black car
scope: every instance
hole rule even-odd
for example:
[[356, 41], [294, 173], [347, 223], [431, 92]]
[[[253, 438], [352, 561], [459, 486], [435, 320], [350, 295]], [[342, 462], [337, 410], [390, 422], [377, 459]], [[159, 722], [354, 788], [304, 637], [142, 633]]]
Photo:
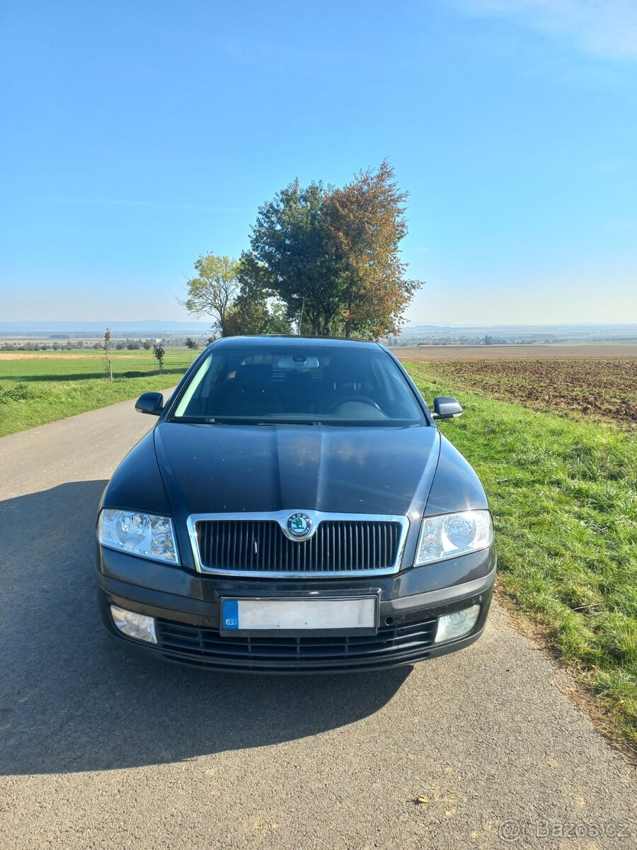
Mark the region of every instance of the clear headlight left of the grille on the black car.
[[177, 564], [177, 544], [170, 517], [106, 508], [99, 514], [98, 540], [110, 549]]

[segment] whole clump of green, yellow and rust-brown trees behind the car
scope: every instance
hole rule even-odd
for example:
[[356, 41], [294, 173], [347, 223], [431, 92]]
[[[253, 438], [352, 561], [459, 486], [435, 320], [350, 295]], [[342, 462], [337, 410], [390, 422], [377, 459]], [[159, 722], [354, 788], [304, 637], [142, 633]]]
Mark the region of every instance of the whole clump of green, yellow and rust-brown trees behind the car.
[[387, 161], [342, 189], [296, 180], [259, 207], [239, 260], [199, 258], [181, 303], [210, 314], [222, 336], [395, 333], [420, 286], [399, 254], [406, 199]]

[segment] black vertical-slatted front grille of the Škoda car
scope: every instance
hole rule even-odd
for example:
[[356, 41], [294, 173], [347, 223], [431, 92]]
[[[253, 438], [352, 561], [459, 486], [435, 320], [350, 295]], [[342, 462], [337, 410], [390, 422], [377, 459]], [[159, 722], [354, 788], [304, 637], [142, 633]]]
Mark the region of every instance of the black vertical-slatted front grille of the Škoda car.
[[[313, 516], [317, 514], [314, 513]], [[289, 513], [285, 512], [285, 518]], [[327, 515], [329, 517], [330, 515]], [[190, 518], [201, 571], [230, 575], [375, 575], [397, 570], [404, 517], [314, 521], [307, 540], [290, 540], [281, 519]]]

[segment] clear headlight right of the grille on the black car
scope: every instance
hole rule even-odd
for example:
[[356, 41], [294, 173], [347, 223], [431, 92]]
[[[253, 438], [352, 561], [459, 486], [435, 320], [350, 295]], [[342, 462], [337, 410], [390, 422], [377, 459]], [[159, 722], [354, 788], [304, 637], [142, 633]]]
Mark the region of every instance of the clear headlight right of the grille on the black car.
[[420, 527], [415, 566], [457, 558], [488, 549], [493, 543], [493, 520], [488, 511], [459, 511], [425, 517]]

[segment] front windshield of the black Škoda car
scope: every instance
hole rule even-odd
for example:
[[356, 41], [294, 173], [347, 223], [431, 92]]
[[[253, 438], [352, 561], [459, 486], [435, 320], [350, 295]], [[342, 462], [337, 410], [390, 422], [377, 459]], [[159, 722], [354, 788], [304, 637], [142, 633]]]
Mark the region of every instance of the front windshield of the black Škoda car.
[[409, 383], [381, 348], [302, 343], [211, 348], [169, 421], [426, 424]]

